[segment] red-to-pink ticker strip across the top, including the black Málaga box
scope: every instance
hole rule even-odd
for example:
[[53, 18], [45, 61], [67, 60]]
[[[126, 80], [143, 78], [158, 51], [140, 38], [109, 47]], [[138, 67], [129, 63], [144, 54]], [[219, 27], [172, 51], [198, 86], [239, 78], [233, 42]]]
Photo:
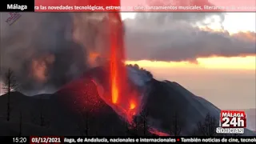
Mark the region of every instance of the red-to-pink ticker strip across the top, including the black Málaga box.
[[255, 0], [5, 0], [1, 12], [255, 12]]

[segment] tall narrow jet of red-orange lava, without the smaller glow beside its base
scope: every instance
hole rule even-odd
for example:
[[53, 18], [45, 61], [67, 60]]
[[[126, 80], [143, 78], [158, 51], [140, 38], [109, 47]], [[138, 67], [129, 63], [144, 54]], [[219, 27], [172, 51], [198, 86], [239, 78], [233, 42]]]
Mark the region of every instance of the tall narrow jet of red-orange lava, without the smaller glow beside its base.
[[110, 86], [114, 104], [118, 104], [119, 96], [126, 89], [126, 66], [122, 20], [118, 13], [110, 13]]

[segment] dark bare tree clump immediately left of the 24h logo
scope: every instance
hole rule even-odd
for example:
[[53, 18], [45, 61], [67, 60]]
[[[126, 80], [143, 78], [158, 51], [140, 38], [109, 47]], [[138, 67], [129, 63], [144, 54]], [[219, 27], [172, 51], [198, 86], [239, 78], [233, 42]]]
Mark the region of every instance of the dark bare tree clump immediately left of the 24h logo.
[[216, 127], [218, 127], [218, 120], [214, 116], [211, 116], [210, 113], [206, 114], [206, 118], [203, 122], [198, 122], [197, 130], [194, 131], [194, 134], [197, 136], [217, 136]]

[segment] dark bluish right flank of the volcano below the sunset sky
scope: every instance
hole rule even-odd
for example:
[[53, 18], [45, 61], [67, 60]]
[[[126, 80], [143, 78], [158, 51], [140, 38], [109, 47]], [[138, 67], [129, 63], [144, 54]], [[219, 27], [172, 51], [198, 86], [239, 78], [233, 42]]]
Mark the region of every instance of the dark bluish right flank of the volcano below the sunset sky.
[[[150, 92], [144, 110], [149, 114], [151, 126], [155, 129], [163, 132], [173, 130], [174, 134], [176, 125], [181, 130], [180, 135], [206, 135], [202, 130], [198, 130], [198, 122], [206, 122], [208, 114], [210, 118], [215, 118], [213, 130], [218, 127], [220, 109], [206, 99], [192, 94], [177, 82], [159, 82], [153, 79], [149, 87]], [[245, 129], [245, 134], [242, 135], [256, 134]]]

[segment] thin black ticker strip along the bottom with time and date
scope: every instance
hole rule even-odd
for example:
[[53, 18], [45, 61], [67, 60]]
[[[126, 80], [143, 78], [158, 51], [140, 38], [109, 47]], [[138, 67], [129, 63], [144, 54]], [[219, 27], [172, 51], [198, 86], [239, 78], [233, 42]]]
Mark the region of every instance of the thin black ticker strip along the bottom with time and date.
[[0, 143], [24, 144], [61, 144], [61, 143], [90, 143], [90, 142], [256, 142], [256, 137], [59, 137], [59, 136], [30, 136], [30, 137], [0, 137]]

